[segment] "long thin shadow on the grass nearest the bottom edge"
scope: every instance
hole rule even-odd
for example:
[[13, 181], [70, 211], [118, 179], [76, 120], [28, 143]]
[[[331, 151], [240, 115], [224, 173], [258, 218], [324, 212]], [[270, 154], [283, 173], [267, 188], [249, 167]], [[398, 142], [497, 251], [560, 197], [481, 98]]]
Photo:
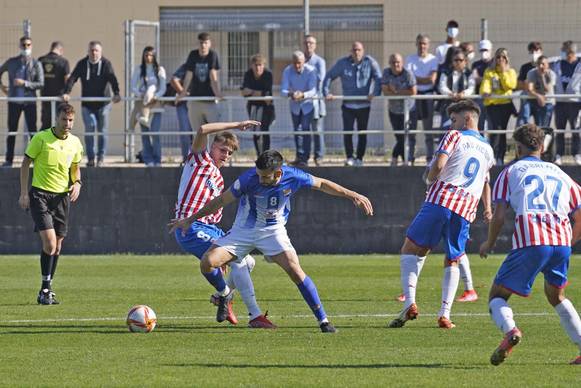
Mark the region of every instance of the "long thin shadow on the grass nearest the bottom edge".
[[335, 364], [335, 365], [250, 365], [250, 364], [160, 364], [162, 367], [204, 367], [204, 368], [304, 368], [304, 369], [387, 369], [387, 368], [434, 368], [434, 369], [481, 369], [482, 366], [461, 366], [457, 364]]

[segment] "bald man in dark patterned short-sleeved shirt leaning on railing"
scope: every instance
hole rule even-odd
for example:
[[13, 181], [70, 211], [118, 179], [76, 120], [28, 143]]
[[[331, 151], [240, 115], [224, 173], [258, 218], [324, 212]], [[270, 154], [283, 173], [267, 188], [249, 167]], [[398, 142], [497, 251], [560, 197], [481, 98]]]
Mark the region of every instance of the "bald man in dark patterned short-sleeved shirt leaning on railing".
[[[413, 96], [418, 93], [415, 77], [413, 72], [403, 66], [403, 58], [395, 53], [389, 56], [389, 67], [383, 70], [381, 78], [381, 90], [386, 96]], [[405, 111], [409, 109], [408, 101], [413, 105], [414, 100], [389, 100], [388, 111], [389, 121], [392, 123], [393, 130], [403, 131], [406, 125]], [[414, 164], [415, 135], [410, 136], [410, 155], [409, 160]], [[393, 146], [392, 166], [397, 165], [397, 157], [404, 159], [405, 147], [404, 135], [396, 135], [396, 145]]]

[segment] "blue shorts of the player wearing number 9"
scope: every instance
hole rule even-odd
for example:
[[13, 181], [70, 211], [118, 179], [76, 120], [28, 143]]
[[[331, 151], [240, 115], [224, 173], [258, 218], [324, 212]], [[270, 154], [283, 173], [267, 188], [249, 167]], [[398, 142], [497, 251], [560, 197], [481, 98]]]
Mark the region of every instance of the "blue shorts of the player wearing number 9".
[[464, 255], [470, 223], [444, 206], [424, 202], [406, 237], [420, 248], [436, 248], [444, 238], [446, 258], [454, 262]]

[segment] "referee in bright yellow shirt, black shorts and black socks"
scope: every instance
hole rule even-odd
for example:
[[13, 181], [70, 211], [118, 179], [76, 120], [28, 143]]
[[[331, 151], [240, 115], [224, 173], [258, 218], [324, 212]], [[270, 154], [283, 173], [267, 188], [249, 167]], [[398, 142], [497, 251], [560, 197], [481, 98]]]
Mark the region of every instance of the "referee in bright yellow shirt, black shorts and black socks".
[[[30, 140], [20, 166], [20, 199], [18, 204], [30, 209], [36, 224], [34, 231], [42, 238], [40, 268], [42, 287], [37, 303], [60, 304], [51, 292], [60, 245], [67, 235], [70, 201], [75, 201], [81, 190], [83, 146], [73, 128], [74, 108], [62, 104], [56, 109], [56, 126], [41, 130]], [[28, 168], [34, 160], [33, 186], [28, 191]], [[73, 185], [69, 187], [69, 170]]]

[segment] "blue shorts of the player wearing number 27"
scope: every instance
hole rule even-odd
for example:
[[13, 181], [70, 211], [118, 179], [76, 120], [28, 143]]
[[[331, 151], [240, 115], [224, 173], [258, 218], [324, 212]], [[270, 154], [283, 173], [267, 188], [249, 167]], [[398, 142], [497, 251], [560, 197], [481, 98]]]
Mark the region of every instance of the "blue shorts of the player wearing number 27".
[[542, 272], [547, 284], [567, 285], [571, 246], [534, 245], [514, 249], [500, 266], [494, 284], [520, 296], [529, 296], [535, 277]]

